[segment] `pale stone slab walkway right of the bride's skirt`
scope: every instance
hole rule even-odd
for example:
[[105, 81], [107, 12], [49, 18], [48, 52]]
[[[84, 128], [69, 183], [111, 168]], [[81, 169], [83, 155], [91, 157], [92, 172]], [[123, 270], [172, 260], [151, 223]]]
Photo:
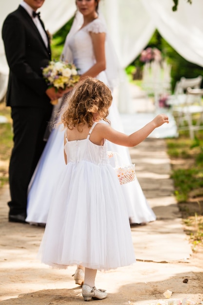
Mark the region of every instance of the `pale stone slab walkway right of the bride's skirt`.
[[[170, 179], [170, 160], [164, 139], [148, 138], [130, 149], [136, 164], [137, 178], [157, 220], [142, 228], [135, 228], [134, 242], [139, 244], [136, 257], [155, 262], [185, 261], [191, 249], [183, 232], [181, 215], [173, 196]], [[140, 241], [144, 240], [143, 245]], [[159, 246], [158, 246], [159, 245]], [[157, 246], [159, 250], [157, 251]]]

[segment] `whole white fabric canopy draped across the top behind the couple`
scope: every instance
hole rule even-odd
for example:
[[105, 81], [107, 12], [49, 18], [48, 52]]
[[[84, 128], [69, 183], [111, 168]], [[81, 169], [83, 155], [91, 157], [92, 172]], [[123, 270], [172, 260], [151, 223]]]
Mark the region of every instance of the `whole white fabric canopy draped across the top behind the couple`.
[[[20, 1], [1, 3], [0, 27]], [[126, 67], [146, 47], [157, 28], [166, 41], [186, 60], [203, 67], [203, 0], [179, 0], [172, 11], [172, 0], [100, 0], [111, 39], [122, 67]], [[75, 0], [45, 0], [41, 17], [53, 34], [76, 10]], [[8, 73], [3, 42], [0, 38], [0, 73]]]

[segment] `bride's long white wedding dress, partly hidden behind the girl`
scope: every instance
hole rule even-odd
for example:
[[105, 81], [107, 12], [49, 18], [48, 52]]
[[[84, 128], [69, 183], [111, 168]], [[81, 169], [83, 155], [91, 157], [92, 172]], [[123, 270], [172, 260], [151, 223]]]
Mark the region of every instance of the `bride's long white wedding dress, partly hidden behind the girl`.
[[[73, 60], [75, 66], [79, 69], [79, 74], [88, 71], [95, 63], [92, 39], [89, 32], [106, 33], [106, 26], [100, 19], [94, 19], [82, 29], [78, 29], [70, 38], [68, 37], [65, 43], [63, 59], [69, 61]], [[101, 72], [96, 78], [112, 87], [112, 79], [109, 81], [110, 78], [108, 78], [108, 73], [106, 73], [106, 71]], [[123, 102], [125, 103], [125, 100]], [[112, 102], [108, 118], [111, 121], [113, 129], [123, 132], [115, 100]], [[50, 201], [54, 195], [54, 188], [65, 167], [63, 157], [63, 135], [63, 128], [60, 125], [57, 129], [52, 131], [38, 162], [37, 169], [34, 172], [28, 191], [26, 221], [29, 223], [46, 223], [47, 221]], [[131, 163], [128, 148], [108, 142], [108, 150], [117, 152], [121, 156], [122, 162], [124, 160], [126, 164]], [[115, 165], [114, 162], [115, 160], [112, 157], [112, 166]], [[122, 185], [121, 188], [126, 199], [129, 221], [131, 224], [148, 223], [156, 219], [153, 210], [148, 205], [137, 178], [135, 178], [135, 181], [133, 182]]]

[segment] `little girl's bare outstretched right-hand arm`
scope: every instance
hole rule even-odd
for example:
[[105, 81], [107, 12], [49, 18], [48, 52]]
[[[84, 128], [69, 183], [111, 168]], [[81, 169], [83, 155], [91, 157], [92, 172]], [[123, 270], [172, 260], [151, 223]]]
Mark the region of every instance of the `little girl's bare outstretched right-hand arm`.
[[97, 126], [99, 125], [99, 136], [118, 145], [133, 147], [145, 140], [155, 128], [163, 125], [164, 123], [168, 123], [168, 116], [166, 114], [158, 114], [151, 122], [130, 135], [117, 132], [106, 124], [97, 124]]

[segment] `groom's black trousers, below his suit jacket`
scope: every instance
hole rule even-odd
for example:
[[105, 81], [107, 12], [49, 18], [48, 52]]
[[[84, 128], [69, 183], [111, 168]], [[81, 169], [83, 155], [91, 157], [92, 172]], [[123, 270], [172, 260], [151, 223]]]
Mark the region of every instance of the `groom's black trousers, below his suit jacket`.
[[27, 189], [46, 142], [43, 136], [50, 120], [52, 105], [47, 109], [12, 107], [14, 147], [9, 165], [11, 201], [9, 214], [26, 215]]

